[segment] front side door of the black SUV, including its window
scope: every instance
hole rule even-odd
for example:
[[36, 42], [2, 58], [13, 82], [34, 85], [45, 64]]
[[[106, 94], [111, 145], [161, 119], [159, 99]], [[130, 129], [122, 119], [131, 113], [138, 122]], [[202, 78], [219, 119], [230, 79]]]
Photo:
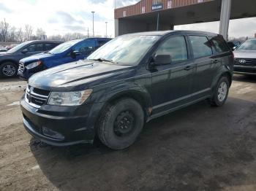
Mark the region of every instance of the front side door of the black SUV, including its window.
[[189, 59], [185, 36], [165, 39], [155, 55], [170, 55], [172, 61], [170, 64], [155, 66], [152, 73], [153, 114], [187, 104], [195, 73], [195, 63]]

